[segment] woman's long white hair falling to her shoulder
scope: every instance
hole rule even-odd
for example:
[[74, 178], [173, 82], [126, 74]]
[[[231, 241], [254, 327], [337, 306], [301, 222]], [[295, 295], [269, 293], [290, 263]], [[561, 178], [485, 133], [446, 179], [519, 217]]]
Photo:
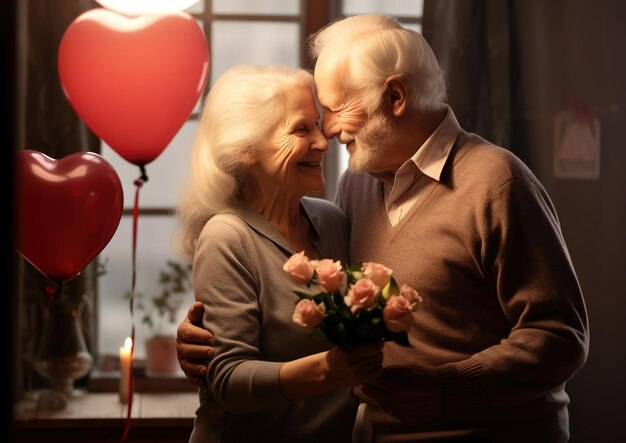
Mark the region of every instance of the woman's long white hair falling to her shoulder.
[[285, 116], [291, 87], [313, 88], [313, 77], [283, 66], [237, 66], [215, 82], [202, 109], [181, 195], [173, 247], [191, 261], [206, 222], [241, 196], [246, 165]]

